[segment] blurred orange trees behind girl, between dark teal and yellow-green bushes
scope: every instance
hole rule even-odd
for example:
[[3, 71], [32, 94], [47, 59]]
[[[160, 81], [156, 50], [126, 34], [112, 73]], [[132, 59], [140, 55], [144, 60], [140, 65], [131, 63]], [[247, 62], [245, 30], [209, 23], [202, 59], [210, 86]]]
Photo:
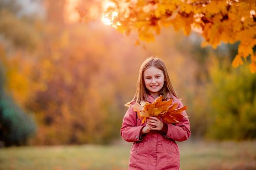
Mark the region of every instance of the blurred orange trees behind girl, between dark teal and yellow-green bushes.
[[[188, 103], [193, 134], [207, 132], [210, 61], [215, 55], [222, 56], [220, 61], [229, 58], [230, 48], [221, 45], [220, 53], [202, 49], [195, 34], [184, 37], [165, 29], [143, 51], [102, 23], [65, 23], [67, 3], [61, 2], [45, 0], [44, 21], [17, 17], [8, 10], [0, 13], [7, 18], [0, 21], [0, 47], [7, 51], [1, 55], [6, 75], [3, 96], [12, 96], [1, 103], [7, 108], [15, 101], [34, 114], [38, 128], [31, 144], [109, 143], [119, 136], [127, 109], [123, 104], [134, 94], [140, 63], [152, 53], [166, 61], [175, 89]], [[90, 12], [94, 1], [84, 2]], [[95, 1], [97, 7], [100, 2]]]

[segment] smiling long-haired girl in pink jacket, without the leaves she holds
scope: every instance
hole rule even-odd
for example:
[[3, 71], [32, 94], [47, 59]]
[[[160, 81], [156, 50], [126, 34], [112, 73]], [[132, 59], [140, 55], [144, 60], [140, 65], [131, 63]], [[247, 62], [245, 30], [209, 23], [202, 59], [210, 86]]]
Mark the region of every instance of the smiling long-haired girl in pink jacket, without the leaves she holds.
[[[133, 142], [129, 170], [179, 170], [179, 148], [175, 140], [184, 141], [189, 138], [189, 119], [184, 117], [180, 123], [169, 124], [150, 117], [141, 124], [142, 120], [131, 107], [135, 102], [154, 102], [160, 95], [165, 100], [171, 98], [172, 103], [178, 103], [177, 108], [183, 106], [171, 85], [164, 62], [150, 57], [141, 65], [137, 90], [132, 101], [126, 104], [129, 109], [121, 127], [121, 136]], [[185, 111], [182, 114], [187, 115]]]

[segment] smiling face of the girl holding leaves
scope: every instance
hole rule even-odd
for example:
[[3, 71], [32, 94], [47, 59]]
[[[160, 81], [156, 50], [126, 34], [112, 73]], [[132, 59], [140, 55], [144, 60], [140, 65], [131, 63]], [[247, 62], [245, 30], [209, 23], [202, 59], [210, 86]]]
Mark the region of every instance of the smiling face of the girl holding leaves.
[[165, 82], [163, 71], [151, 66], [144, 71], [143, 78], [146, 88], [149, 90], [150, 94], [154, 98], [158, 97], [159, 91], [162, 89]]

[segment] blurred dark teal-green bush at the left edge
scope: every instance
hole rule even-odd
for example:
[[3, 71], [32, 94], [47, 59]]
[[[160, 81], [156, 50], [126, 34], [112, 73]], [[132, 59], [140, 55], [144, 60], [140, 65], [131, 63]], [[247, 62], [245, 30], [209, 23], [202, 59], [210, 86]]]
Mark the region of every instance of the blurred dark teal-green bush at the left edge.
[[[1, 49], [1, 56], [3, 51]], [[32, 117], [21, 109], [4, 90], [4, 69], [0, 60], [0, 141], [5, 146], [24, 145], [36, 131]]]

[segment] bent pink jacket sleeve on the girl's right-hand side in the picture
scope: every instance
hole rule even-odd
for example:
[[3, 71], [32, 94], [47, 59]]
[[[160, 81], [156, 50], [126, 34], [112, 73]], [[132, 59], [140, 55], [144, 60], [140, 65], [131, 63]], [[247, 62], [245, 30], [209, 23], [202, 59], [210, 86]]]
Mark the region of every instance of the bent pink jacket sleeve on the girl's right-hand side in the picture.
[[[183, 107], [183, 104], [180, 100], [178, 100], [178, 107]], [[182, 112], [183, 115], [187, 116], [186, 111]], [[177, 141], [184, 141], [187, 140], [190, 135], [190, 121], [188, 118], [183, 117], [183, 119], [180, 121], [180, 123], [170, 124], [168, 123], [168, 130], [167, 134], [165, 135], [166, 138], [177, 140]]]

